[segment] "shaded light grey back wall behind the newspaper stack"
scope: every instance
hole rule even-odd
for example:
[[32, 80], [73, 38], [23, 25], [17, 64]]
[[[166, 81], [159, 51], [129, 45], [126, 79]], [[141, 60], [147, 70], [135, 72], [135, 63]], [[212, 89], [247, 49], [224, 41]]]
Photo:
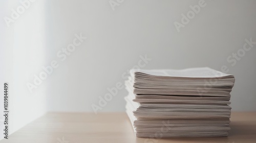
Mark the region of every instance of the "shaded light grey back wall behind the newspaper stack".
[[[236, 77], [233, 111], [256, 110], [256, 45], [235, 66], [227, 57], [256, 41], [256, 1], [205, 1], [206, 6], [177, 32], [174, 22], [199, 1], [124, 1], [112, 10], [109, 1], [48, 1], [48, 59], [83, 33], [88, 39], [46, 80], [48, 109], [92, 111], [140, 55], [145, 68], [209, 66]], [[124, 111], [125, 89], [101, 111]]]

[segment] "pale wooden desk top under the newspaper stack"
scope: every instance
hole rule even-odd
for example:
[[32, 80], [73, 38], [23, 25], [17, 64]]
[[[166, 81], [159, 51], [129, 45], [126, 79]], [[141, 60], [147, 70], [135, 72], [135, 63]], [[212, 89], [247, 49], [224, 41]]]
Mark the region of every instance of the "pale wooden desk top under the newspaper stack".
[[232, 112], [230, 127], [228, 137], [146, 140], [135, 137], [125, 113], [48, 113], [0, 142], [256, 142], [256, 112]]

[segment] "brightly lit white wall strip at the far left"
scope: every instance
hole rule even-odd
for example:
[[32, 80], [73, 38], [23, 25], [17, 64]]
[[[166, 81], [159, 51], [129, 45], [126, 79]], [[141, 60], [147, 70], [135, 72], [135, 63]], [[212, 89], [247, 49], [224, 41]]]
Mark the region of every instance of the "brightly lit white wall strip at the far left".
[[[46, 62], [44, 2], [31, 3], [25, 12], [17, 16], [9, 27], [4, 17], [11, 18], [11, 9], [22, 6], [18, 1], [2, 1], [1, 8], [1, 98], [0, 126], [3, 129], [4, 82], [9, 89], [9, 134], [46, 113], [46, 85], [30, 93], [27, 83]], [[3, 130], [0, 131], [3, 138]]]

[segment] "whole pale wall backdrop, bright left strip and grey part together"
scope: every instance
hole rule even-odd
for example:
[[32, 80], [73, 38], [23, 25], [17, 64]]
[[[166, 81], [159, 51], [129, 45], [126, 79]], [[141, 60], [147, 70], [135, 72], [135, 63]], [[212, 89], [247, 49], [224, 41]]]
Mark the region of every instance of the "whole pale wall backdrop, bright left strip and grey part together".
[[[123, 83], [122, 74], [145, 55], [152, 59], [145, 69], [226, 65], [236, 78], [232, 111], [256, 111], [256, 44], [235, 65], [227, 61], [245, 39], [256, 41], [256, 1], [205, 0], [178, 32], [174, 22], [182, 23], [182, 14], [198, 3], [111, 1], [113, 10], [108, 0], [35, 1], [7, 27], [4, 16], [21, 4], [1, 2], [1, 80], [10, 83], [14, 128], [47, 111], [92, 112], [99, 96]], [[61, 61], [58, 51], [80, 33], [87, 39]], [[27, 83], [53, 60], [59, 66], [30, 93]], [[118, 90], [100, 111], [124, 111], [126, 94]]]

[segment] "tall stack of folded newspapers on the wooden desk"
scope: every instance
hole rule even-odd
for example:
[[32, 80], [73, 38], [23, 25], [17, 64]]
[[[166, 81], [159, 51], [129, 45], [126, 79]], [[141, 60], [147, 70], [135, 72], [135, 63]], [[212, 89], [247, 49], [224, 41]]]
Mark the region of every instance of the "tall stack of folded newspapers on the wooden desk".
[[131, 69], [126, 113], [137, 137], [227, 136], [234, 76], [208, 68]]

